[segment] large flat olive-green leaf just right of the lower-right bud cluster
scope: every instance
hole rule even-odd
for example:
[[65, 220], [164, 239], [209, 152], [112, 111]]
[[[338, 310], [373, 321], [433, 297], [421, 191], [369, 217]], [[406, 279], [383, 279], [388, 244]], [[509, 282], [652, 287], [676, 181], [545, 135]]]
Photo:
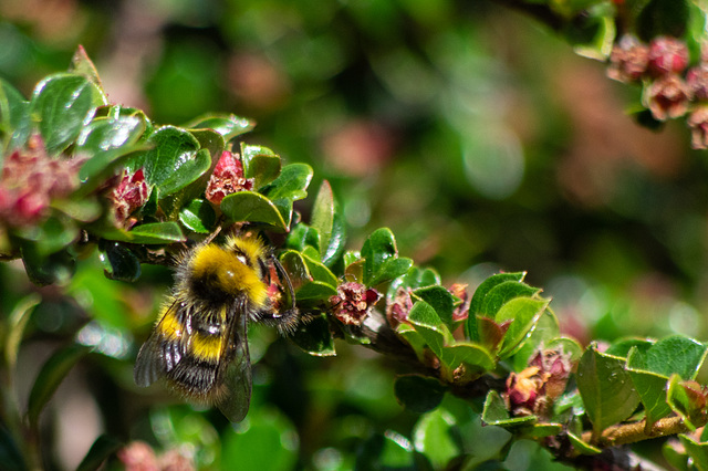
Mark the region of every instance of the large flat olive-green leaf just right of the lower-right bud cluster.
[[577, 389], [583, 398], [593, 435], [628, 418], [639, 405], [624, 359], [603, 354], [591, 344], [577, 365]]

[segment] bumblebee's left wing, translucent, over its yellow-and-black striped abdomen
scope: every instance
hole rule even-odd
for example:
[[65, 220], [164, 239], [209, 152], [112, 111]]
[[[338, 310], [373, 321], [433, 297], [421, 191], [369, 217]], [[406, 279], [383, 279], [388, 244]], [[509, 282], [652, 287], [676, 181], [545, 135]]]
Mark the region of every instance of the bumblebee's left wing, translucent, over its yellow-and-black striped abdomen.
[[155, 383], [160, 376], [170, 371], [185, 356], [187, 343], [184, 335], [178, 339], [167, 339], [166, 318], [177, 321], [180, 326], [186, 325], [186, 317], [191, 315], [190, 311], [183, 306], [177, 300], [173, 302], [163, 313], [159, 322], [153, 328], [150, 336], [145, 341], [135, 360], [133, 377], [135, 384], [147, 387]]

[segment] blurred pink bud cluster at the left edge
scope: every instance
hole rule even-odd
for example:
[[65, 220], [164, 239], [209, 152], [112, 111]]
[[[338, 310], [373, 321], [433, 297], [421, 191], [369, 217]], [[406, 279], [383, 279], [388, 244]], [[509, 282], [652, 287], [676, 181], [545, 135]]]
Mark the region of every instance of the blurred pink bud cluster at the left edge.
[[82, 159], [51, 158], [32, 136], [24, 149], [6, 157], [0, 174], [0, 224], [27, 228], [43, 221], [53, 199], [79, 188]]

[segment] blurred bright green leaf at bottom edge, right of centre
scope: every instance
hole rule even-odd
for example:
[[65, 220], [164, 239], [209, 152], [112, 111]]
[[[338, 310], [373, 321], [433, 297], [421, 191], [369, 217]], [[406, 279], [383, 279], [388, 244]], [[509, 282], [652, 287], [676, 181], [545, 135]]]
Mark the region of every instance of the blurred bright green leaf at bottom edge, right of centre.
[[450, 412], [438, 408], [424, 415], [413, 430], [416, 451], [426, 456], [435, 469], [445, 469], [462, 453], [459, 429]]

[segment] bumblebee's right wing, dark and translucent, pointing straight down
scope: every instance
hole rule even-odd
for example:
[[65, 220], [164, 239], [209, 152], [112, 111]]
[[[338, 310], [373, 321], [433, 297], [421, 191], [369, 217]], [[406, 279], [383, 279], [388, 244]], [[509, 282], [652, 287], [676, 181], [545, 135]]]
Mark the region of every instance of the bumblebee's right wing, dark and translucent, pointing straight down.
[[238, 303], [228, 326], [225, 352], [226, 358], [219, 365], [218, 377], [221, 378], [222, 391], [216, 405], [232, 422], [240, 422], [248, 414], [251, 404], [251, 357], [248, 352], [248, 313], [244, 303]]

